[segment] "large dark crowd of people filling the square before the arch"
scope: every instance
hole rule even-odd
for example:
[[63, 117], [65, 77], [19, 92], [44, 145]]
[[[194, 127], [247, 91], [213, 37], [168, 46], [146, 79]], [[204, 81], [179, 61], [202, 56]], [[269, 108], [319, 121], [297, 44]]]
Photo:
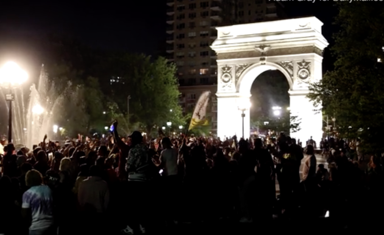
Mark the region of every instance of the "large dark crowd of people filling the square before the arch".
[[284, 133], [268, 140], [150, 140], [139, 131], [119, 136], [113, 125], [104, 140], [61, 146], [45, 136], [33, 150], [8, 143], [1, 158], [0, 234], [140, 234], [186, 222], [268, 225], [275, 217], [325, 214], [350, 227], [357, 213], [381, 208], [381, 156], [370, 156], [364, 169], [353, 157], [356, 148], [343, 140], [320, 143], [329, 149], [323, 153], [328, 171], [317, 165], [311, 139], [302, 148]]

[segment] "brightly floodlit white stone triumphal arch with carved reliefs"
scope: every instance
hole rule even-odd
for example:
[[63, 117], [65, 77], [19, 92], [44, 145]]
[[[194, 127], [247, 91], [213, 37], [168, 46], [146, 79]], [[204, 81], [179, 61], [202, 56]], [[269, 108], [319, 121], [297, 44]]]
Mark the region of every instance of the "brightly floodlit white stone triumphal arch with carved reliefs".
[[[322, 78], [323, 50], [328, 42], [316, 17], [217, 27], [211, 48], [217, 53], [217, 135], [241, 136], [241, 104], [249, 103], [253, 81], [265, 71], [286, 77], [291, 115], [300, 130], [290, 136], [303, 143], [313, 136], [320, 142], [323, 117], [306, 98], [309, 84]], [[317, 107], [318, 108], [318, 107]], [[244, 138], [250, 136], [250, 111], [245, 110]]]

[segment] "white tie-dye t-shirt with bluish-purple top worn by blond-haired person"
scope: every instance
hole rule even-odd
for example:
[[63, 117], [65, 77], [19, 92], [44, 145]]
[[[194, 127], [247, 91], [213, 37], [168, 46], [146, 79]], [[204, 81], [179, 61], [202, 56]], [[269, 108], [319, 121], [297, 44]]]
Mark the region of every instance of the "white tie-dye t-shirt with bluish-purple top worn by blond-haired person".
[[31, 209], [30, 230], [49, 228], [53, 225], [52, 191], [46, 185], [33, 186], [23, 194], [22, 208]]

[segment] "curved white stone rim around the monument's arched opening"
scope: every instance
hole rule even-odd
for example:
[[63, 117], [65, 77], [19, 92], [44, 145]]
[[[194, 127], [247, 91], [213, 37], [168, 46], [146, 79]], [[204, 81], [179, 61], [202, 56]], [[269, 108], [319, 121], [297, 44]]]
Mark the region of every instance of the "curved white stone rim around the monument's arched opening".
[[[284, 69], [284, 67], [279, 64], [272, 62], [259, 62], [249, 66], [245, 69], [238, 81], [236, 82], [236, 92], [245, 93], [245, 90], [248, 89], [250, 91], [252, 83], [257, 79], [257, 77], [265, 71], [268, 70], [278, 70], [284, 74], [285, 78], [288, 81], [290, 90], [293, 90], [293, 78], [292, 76]], [[253, 72], [254, 71], [254, 72]], [[253, 77], [253, 78], [252, 78]], [[251, 82], [252, 80], [252, 82]]]

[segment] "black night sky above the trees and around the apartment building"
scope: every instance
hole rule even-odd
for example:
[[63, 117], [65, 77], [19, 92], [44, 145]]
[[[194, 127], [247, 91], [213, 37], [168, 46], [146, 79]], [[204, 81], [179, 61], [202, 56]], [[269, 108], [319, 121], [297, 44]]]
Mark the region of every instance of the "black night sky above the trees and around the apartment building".
[[[146, 54], [156, 53], [165, 42], [166, 0], [68, 2], [2, 2], [0, 57], [30, 57], [31, 51], [44, 49], [34, 48], [34, 42], [52, 32], [66, 33], [96, 48]], [[330, 39], [336, 12], [332, 1], [283, 3], [290, 17], [317, 16]]]

